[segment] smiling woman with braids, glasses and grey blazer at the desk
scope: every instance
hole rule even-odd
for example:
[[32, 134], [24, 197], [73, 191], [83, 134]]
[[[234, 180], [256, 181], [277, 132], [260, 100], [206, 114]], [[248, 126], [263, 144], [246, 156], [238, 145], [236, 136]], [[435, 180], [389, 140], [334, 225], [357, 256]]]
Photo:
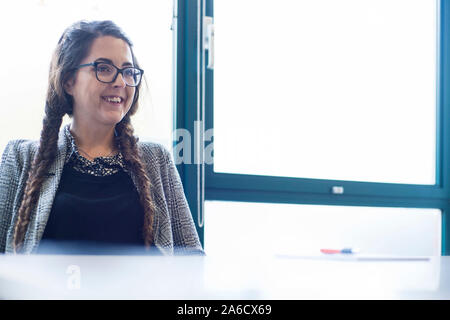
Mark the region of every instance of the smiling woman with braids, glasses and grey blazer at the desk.
[[142, 75], [113, 22], [64, 32], [40, 141], [10, 141], [2, 156], [0, 252], [38, 252], [46, 240], [203, 253], [170, 154], [133, 135]]

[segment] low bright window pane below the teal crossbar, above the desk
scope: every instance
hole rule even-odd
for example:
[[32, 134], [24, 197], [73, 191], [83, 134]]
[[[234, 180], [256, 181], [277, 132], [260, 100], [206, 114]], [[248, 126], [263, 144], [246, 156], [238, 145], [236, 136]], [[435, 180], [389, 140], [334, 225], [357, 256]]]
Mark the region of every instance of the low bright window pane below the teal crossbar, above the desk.
[[433, 256], [441, 254], [441, 219], [438, 209], [206, 201], [205, 252]]

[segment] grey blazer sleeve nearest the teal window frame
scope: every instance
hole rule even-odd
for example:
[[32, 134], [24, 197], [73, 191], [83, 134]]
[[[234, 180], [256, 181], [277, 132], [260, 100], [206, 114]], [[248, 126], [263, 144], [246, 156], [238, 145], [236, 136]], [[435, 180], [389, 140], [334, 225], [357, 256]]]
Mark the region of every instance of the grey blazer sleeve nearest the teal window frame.
[[204, 255], [189, 204], [184, 194], [183, 184], [173, 162], [172, 155], [166, 148], [161, 146], [161, 149], [167, 171], [167, 185], [164, 186], [164, 189], [172, 224], [175, 253]]

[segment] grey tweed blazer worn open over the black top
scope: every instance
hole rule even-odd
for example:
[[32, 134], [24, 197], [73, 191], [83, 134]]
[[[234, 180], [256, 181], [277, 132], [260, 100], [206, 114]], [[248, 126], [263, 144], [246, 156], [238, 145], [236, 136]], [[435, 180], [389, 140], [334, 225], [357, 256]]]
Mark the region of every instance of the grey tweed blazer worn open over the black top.
[[[0, 253], [13, 252], [14, 225], [23, 197], [27, 172], [39, 146], [38, 141], [13, 140], [8, 143], [0, 164]], [[171, 154], [160, 144], [138, 142], [138, 148], [153, 185], [157, 212], [154, 219], [154, 245], [167, 255], [174, 252], [200, 253], [198, 239], [183, 185]], [[42, 184], [39, 200], [25, 234], [24, 253], [34, 253], [44, 233], [65, 164], [67, 142], [61, 128], [58, 154]], [[136, 177], [131, 174], [136, 185]]]

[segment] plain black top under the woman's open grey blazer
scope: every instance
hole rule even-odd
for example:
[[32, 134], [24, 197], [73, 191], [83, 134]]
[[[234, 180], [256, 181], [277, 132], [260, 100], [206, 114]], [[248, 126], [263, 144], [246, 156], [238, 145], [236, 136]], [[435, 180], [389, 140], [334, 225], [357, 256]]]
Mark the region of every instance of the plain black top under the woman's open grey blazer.
[[143, 224], [128, 173], [94, 176], [67, 164], [42, 239], [144, 246]]

